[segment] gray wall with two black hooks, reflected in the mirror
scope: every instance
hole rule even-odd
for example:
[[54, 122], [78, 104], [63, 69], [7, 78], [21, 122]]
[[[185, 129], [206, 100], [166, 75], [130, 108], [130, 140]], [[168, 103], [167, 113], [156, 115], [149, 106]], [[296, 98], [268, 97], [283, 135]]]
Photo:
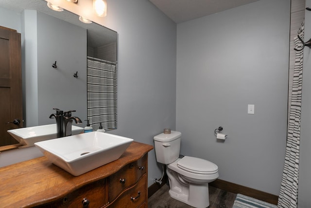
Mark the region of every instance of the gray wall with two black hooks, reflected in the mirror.
[[55, 123], [53, 108], [76, 110], [72, 115], [85, 120], [86, 29], [38, 12], [37, 44], [38, 124]]

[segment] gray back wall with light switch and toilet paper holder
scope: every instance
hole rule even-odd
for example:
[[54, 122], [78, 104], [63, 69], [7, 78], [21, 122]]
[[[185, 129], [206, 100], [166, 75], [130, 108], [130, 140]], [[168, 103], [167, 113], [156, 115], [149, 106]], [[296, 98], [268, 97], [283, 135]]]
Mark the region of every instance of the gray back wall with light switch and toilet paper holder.
[[[260, 0], [177, 25], [181, 154], [219, 178], [278, 195], [287, 132], [290, 0]], [[255, 114], [247, 105], [255, 104]], [[225, 142], [214, 130], [224, 127]]]

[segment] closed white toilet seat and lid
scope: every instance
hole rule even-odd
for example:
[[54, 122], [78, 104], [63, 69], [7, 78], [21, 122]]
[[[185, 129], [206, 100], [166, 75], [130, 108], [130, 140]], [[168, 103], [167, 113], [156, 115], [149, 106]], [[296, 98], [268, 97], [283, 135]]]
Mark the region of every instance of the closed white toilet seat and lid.
[[215, 174], [218, 172], [218, 167], [214, 163], [190, 156], [184, 156], [178, 160], [177, 167], [197, 174]]

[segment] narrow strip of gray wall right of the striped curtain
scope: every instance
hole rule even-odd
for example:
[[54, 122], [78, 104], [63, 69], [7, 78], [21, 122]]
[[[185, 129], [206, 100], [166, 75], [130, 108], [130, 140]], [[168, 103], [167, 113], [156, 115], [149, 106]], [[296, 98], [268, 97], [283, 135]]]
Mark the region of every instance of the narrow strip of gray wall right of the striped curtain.
[[[311, 0], [306, 0], [306, 6]], [[305, 41], [311, 38], [311, 12], [305, 12]], [[307, 208], [311, 205], [311, 51], [305, 47], [303, 54], [302, 103], [300, 124], [300, 158], [298, 180], [298, 208]]]

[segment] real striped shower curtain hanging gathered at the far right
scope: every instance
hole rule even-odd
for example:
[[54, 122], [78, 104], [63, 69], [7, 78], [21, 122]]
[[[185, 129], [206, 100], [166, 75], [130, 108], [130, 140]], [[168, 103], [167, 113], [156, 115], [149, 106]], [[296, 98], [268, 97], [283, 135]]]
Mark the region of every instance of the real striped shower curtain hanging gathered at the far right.
[[[304, 37], [304, 26], [298, 31]], [[295, 48], [301, 49], [302, 43], [294, 38]], [[285, 162], [277, 207], [296, 208], [298, 197], [299, 141], [301, 118], [303, 50], [296, 51], [290, 119], [287, 131]]]

